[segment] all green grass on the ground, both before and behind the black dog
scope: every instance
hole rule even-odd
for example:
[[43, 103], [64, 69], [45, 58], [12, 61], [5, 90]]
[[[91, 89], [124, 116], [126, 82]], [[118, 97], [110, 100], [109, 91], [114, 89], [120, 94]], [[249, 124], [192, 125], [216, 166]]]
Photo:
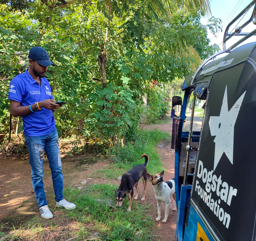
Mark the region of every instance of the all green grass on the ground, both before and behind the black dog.
[[[162, 162], [156, 154], [155, 146], [170, 135], [159, 130], [142, 131], [134, 134], [134, 141], [125, 147], [118, 146], [113, 151], [114, 163], [107, 169], [99, 170], [105, 177], [122, 175], [136, 164], [143, 163], [140, 156], [149, 155], [147, 170], [150, 173], [163, 170]], [[74, 210], [60, 209], [55, 203], [49, 208], [54, 218], [44, 220], [35, 217], [22, 227], [11, 230], [12, 235], [5, 240], [102, 240], [102, 241], [149, 241], [154, 239], [155, 226], [149, 216], [151, 204], [133, 202], [131, 212], [127, 211], [129, 201], [126, 198], [121, 208], [116, 207], [113, 183], [93, 184], [87, 189], [66, 188], [64, 195], [74, 202]], [[3, 229], [3, 227], [2, 227]], [[0, 237], [6, 234], [1, 232]]]

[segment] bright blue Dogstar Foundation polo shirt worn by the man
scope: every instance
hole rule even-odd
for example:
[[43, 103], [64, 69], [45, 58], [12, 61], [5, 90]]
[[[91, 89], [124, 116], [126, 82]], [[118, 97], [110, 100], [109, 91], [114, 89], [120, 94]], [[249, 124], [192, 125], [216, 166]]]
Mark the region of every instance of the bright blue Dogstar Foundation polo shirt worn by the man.
[[[28, 106], [45, 99], [53, 99], [53, 94], [46, 78], [41, 78], [40, 86], [27, 69], [11, 81], [9, 99], [20, 102], [21, 106]], [[22, 116], [22, 121], [24, 134], [28, 136], [47, 135], [55, 127], [53, 111], [45, 108]]]

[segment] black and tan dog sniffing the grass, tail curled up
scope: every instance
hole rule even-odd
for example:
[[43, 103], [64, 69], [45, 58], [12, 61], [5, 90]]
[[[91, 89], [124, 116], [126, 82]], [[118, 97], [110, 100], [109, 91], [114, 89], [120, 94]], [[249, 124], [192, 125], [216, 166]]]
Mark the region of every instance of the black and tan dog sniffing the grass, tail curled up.
[[[137, 200], [139, 195], [139, 188], [138, 188], [138, 182], [139, 179], [142, 178], [143, 186], [144, 186], [144, 193], [141, 198], [142, 201], [145, 200], [146, 195], [146, 186], [147, 186], [147, 163], [149, 161], [149, 157], [146, 154], [143, 154], [141, 158], [145, 157], [145, 163], [144, 164], [138, 164], [135, 167], [133, 167], [131, 170], [127, 171], [125, 174], [123, 174], [121, 179], [121, 184], [118, 187], [118, 189], [115, 189], [115, 197], [117, 200], [117, 206], [121, 207], [123, 200], [125, 199], [126, 195], [128, 195], [128, 198], [130, 199], [128, 211], [131, 211], [131, 204], [133, 202], [133, 199]], [[133, 187], [136, 187], [137, 194], [135, 197], [133, 197]]]

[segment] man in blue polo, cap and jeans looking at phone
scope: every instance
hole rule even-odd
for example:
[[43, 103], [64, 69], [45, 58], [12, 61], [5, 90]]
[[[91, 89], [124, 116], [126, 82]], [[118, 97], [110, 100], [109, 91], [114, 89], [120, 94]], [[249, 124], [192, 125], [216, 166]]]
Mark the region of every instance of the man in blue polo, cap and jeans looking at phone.
[[43, 158], [46, 152], [51, 168], [57, 207], [74, 209], [75, 204], [64, 199], [62, 163], [59, 152], [59, 138], [55, 127], [53, 111], [59, 108], [53, 99], [51, 87], [44, 78], [50, 61], [41, 47], [29, 51], [29, 69], [17, 75], [10, 83], [10, 111], [13, 116], [22, 116], [26, 145], [29, 150], [32, 186], [43, 218], [53, 214], [48, 208], [43, 188]]

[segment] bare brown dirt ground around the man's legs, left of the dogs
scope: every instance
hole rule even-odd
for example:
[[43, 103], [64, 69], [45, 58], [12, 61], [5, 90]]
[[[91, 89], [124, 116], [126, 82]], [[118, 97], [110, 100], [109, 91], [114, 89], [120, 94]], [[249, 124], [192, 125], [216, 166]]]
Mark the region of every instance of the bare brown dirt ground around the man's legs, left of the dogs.
[[[68, 147], [69, 146], [69, 147]], [[90, 156], [70, 157], [65, 152], [70, 150], [70, 143], [60, 143], [64, 188], [80, 183], [91, 174], [91, 169], [102, 169], [108, 165], [106, 161], [90, 161]], [[6, 158], [0, 155], [0, 227], [9, 230], [26, 222], [34, 216], [39, 216], [35, 194], [31, 184], [29, 159]], [[97, 159], [98, 160], [98, 159]], [[93, 177], [90, 182], [98, 182], [99, 177]], [[48, 205], [55, 205], [51, 170], [47, 158], [44, 160], [44, 189]], [[81, 185], [82, 186], [82, 185]]]

